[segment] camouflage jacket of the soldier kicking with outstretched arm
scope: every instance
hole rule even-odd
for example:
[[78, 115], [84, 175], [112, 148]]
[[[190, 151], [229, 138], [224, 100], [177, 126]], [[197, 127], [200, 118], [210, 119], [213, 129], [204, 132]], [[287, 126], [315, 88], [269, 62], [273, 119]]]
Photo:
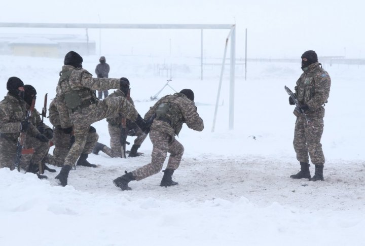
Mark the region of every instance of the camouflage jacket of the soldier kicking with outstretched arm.
[[[65, 78], [65, 80], [61, 80]], [[76, 92], [84, 104], [95, 103], [97, 99], [95, 90], [118, 89], [120, 79], [92, 78], [92, 75], [83, 68], [76, 68], [71, 65], [62, 66], [60, 80], [56, 87], [57, 109], [67, 109], [65, 95], [69, 92]], [[59, 110], [60, 123], [62, 128], [69, 127], [67, 110]], [[68, 126], [67, 126], [68, 125]]]

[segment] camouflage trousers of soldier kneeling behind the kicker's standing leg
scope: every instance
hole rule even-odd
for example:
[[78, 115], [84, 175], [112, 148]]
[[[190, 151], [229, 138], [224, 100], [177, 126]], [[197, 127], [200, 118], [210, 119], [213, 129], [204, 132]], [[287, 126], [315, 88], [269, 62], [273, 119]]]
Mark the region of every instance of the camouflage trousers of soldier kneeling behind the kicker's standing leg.
[[[96, 132], [88, 132], [82, 154], [90, 154], [98, 139], [99, 135]], [[53, 156], [48, 155], [46, 162], [55, 166], [63, 166], [67, 153], [71, 148], [71, 135], [64, 133], [59, 127], [54, 127], [52, 140], [55, 146]]]

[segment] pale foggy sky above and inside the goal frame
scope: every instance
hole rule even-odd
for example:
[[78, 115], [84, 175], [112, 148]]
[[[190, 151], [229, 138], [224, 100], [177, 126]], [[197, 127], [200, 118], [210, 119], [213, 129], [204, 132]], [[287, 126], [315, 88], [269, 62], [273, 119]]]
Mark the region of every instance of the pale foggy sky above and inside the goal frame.
[[[236, 23], [238, 58], [244, 57], [246, 28], [249, 58], [297, 58], [309, 49], [319, 56], [364, 58], [364, 7], [360, 0], [6, 1], [2, 3], [0, 22]], [[0, 28], [0, 36], [14, 31], [19, 30]], [[72, 32], [84, 34], [85, 30]], [[204, 31], [204, 52], [222, 55], [228, 32]], [[98, 33], [98, 30], [89, 33], [97, 43]], [[102, 30], [101, 37], [101, 49], [105, 52], [117, 48], [121, 53], [131, 54], [152, 54], [159, 49], [179, 55], [200, 54], [198, 30]]]

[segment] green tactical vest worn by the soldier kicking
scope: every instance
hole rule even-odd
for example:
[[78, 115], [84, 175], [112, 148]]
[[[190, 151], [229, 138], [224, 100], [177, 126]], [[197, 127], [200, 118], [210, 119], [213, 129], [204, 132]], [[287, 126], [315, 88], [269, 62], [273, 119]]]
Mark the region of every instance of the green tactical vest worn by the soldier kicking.
[[[58, 85], [62, 90], [61, 98], [64, 100], [66, 107], [72, 112], [88, 107], [96, 102], [96, 95], [94, 91], [85, 87], [79, 90], [73, 90], [69, 83], [70, 76], [73, 69], [69, 69], [65, 72], [60, 72], [60, 78], [58, 80]], [[65, 86], [65, 89], [64, 87]]]

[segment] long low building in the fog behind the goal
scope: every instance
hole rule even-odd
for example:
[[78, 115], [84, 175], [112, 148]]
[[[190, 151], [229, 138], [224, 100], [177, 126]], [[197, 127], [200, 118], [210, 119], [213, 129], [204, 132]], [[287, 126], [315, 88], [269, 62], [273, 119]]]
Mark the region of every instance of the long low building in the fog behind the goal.
[[95, 41], [72, 34], [0, 34], [0, 55], [63, 57], [70, 50], [95, 55]]

